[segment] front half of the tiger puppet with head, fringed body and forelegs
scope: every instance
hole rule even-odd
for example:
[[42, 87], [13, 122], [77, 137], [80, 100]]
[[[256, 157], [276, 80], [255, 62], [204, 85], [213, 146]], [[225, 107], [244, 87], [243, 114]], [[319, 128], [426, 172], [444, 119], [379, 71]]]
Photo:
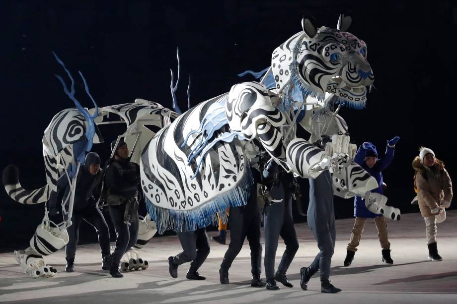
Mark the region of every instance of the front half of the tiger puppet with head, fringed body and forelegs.
[[[260, 83], [236, 84], [157, 132], [140, 167], [159, 233], [206, 227], [216, 213], [245, 204], [252, 179], [241, 142], [253, 139], [286, 171], [312, 179], [329, 170], [335, 195], [365, 197], [370, 210], [399, 219], [398, 209], [371, 194], [377, 182], [352, 162], [356, 146], [337, 115], [341, 106], [363, 108], [374, 81], [365, 43], [346, 32], [350, 22], [341, 15], [337, 29], [316, 28], [304, 18]], [[309, 140], [296, 138], [297, 124]]]

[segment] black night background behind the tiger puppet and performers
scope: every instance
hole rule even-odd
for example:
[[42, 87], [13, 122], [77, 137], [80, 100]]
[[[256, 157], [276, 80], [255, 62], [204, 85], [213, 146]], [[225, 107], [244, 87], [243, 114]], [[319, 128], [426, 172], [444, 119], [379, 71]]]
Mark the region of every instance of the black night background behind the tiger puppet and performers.
[[[169, 69], [176, 70], [179, 47], [178, 99], [186, 109], [188, 74], [195, 105], [237, 82], [252, 80], [240, 79], [237, 73], [269, 66], [272, 51], [301, 30], [304, 14], [314, 16], [318, 26], [335, 28], [339, 14], [350, 10], [349, 32], [368, 45], [377, 90], [369, 94], [365, 110], [343, 109], [340, 114], [355, 143], [372, 141], [380, 155], [387, 139], [401, 137], [383, 173], [388, 204], [403, 213], [418, 212], [409, 203], [415, 195], [411, 162], [421, 145], [432, 148], [456, 177], [451, 110], [457, 61], [455, 1], [192, 2], [1, 1], [1, 170], [15, 164], [25, 188], [45, 184], [44, 129], [59, 111], [74, 107], [54, 77], [66, 75], [51, 51], [75, 78], [77, 70], [83, 72], [100, 107], [135, 98], [171, 107]], [[92, 107], [80, 81], [76, 90], [82, 104]], [[115, 136], [104, 134], [108, 142]], [[106, 159], [107, 146], [95, 149]], [[24, 248], [43, 217], [43, 205], [21, 205], [3, 189], [0, 193], [0, 251]], [[353, 199], [335, 198], [335, 212], [337, 218], [352, 217]], [[349, 238], [351, 228], [338, 233]], [[86, 242], [96, 242], [96, 234], [83, 224], [80, 243]]]

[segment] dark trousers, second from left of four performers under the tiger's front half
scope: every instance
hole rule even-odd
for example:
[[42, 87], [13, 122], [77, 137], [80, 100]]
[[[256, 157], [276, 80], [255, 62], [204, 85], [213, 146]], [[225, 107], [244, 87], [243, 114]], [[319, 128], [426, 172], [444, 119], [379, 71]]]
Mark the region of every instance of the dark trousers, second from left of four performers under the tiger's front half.
[[251, 273], [260, 276], [262, 244], [260, 243], [261, 218], [257, 202], [253, 206], [231, 207], [229, 215], [230, 244], [221, 268], [229, 270], [247, 237], [251, 247]]

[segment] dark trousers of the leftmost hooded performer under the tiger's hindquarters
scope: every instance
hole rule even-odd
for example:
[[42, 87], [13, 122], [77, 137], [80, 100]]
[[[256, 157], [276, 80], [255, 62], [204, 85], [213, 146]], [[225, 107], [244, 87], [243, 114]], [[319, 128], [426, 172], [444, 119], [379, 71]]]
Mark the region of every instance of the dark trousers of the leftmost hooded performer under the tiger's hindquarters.
[[98, 234], [98, 243], [100, 244], [101, 255], [109, 255], [109, 230], [105, 218], [100, 209], [95, 206], [88, 207], [85, 210], [74, 212], [72, 215], [72, 226], [67, 228], [69, 241], [65, 247], [67, 260], [74, 260], [76, 255], [76, 245], [79, 239], [79, 225], [82, 220], [92, 225]]

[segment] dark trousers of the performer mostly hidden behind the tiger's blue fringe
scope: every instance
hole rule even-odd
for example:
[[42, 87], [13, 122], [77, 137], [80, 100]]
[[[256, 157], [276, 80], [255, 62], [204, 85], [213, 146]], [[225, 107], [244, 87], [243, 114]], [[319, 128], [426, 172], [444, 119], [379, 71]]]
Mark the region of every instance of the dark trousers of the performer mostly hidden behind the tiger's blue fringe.
[[210, 241], [205, 228], [196, 231], [177, 232], [182, 251], [173, 257], [173, 263], [190, 263], [190, 269], [197, 271], [210, 254]]

